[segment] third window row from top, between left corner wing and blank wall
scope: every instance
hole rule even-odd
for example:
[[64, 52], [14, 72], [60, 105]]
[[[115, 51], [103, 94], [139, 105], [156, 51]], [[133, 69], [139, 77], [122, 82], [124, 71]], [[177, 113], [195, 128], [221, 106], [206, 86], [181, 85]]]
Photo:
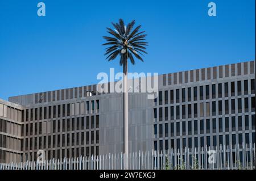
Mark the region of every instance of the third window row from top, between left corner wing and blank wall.
[[21, 140], [21, 150], [52, 149], [64, 146], [83, 146], [98, 143], [99, 131], [88, 131], [25, 138]]

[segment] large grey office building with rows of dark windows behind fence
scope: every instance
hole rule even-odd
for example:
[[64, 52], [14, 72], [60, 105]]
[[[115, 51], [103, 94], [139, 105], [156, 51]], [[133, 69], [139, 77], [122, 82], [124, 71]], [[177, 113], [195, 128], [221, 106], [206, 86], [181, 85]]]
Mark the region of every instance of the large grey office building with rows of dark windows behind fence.
[[[129, 94], [130, 151], [255, 144], [255, 61], [158, 76]], [[131, 81], [133, 83], [133, 81]], [[121, 153], [122, 94], [96, 85], [0, 99], [0, 162]]]

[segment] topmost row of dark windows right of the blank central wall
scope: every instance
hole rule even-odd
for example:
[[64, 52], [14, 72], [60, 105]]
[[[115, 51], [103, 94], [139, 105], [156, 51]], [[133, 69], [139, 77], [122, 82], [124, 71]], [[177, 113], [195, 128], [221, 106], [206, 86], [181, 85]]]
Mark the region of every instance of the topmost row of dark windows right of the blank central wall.
[[[222, 94], [223, 85], [224, 85], [224, 92]], [[217, 92], [216, 92], [216, 89], [217, 89]], [[205, 100], [205, 99], [207, 100], [210, 98], [211, 99], [222, 98], [223, 96], [224, 97], [239, 96], [239, 95], [242, 95], [242, 93], [243, 95], [247, 95], [249, 94], [248, 89], [249, 89], [248, 80], [245, 80], [243, 81], [243, 90], [242, 90], [242, 81], [225, 82], [225, 83], [218, 83], [217, 85], [213, 84], [213, 85], [199, 86], [199, 95], [197, 93], [198, 91], [197, 86], [183, 88], [181, 89], [181, 98], [180, 98], [180, 89], [170, 90], [170, 91], [166, 90], [164, 91], [164, 103], [163, 103], [163, 91], [159, 91], [159, 105], [169, 104], [169, 103], [173, 104], [173, 103], [180, 103], [180, 102], [191, 102], [192, 98], [193, 98], [193, 101], [196, 101], [196, 100]], [[237, 90], [237, 94], [235, 90]], [[255, 94], [255, 79], [250, 80], [250, 94]], [[168, 99], [168, 95], [170, 95], [170, 102]], [[156, 101], [157, 99], [155, 99], [155, 103]]]

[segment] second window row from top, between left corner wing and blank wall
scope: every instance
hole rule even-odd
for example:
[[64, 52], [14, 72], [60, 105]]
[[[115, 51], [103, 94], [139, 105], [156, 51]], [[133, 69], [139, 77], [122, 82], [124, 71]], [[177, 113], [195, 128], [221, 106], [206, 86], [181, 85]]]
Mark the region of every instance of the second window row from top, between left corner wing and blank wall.
[[74, 117], [72, 119], [40, 121], [39, 123], [27, 123], [22, 125], [22, 136], [32, 136], [46, 133], [60, 133], [71, 131], [83, 131], [95, 129], [100, 126], [99, 115]]

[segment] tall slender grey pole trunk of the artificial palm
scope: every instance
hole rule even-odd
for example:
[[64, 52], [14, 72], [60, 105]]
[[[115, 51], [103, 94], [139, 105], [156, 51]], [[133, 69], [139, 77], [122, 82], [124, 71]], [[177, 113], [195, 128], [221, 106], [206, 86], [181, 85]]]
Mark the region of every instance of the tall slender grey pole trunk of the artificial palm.
[[129, 169], [128, 154], [129, 154], [129, 124], [128, 124], [128, 78], [127, 60], [123, 63], [123, 151], [125, 153], [125, 169]]

